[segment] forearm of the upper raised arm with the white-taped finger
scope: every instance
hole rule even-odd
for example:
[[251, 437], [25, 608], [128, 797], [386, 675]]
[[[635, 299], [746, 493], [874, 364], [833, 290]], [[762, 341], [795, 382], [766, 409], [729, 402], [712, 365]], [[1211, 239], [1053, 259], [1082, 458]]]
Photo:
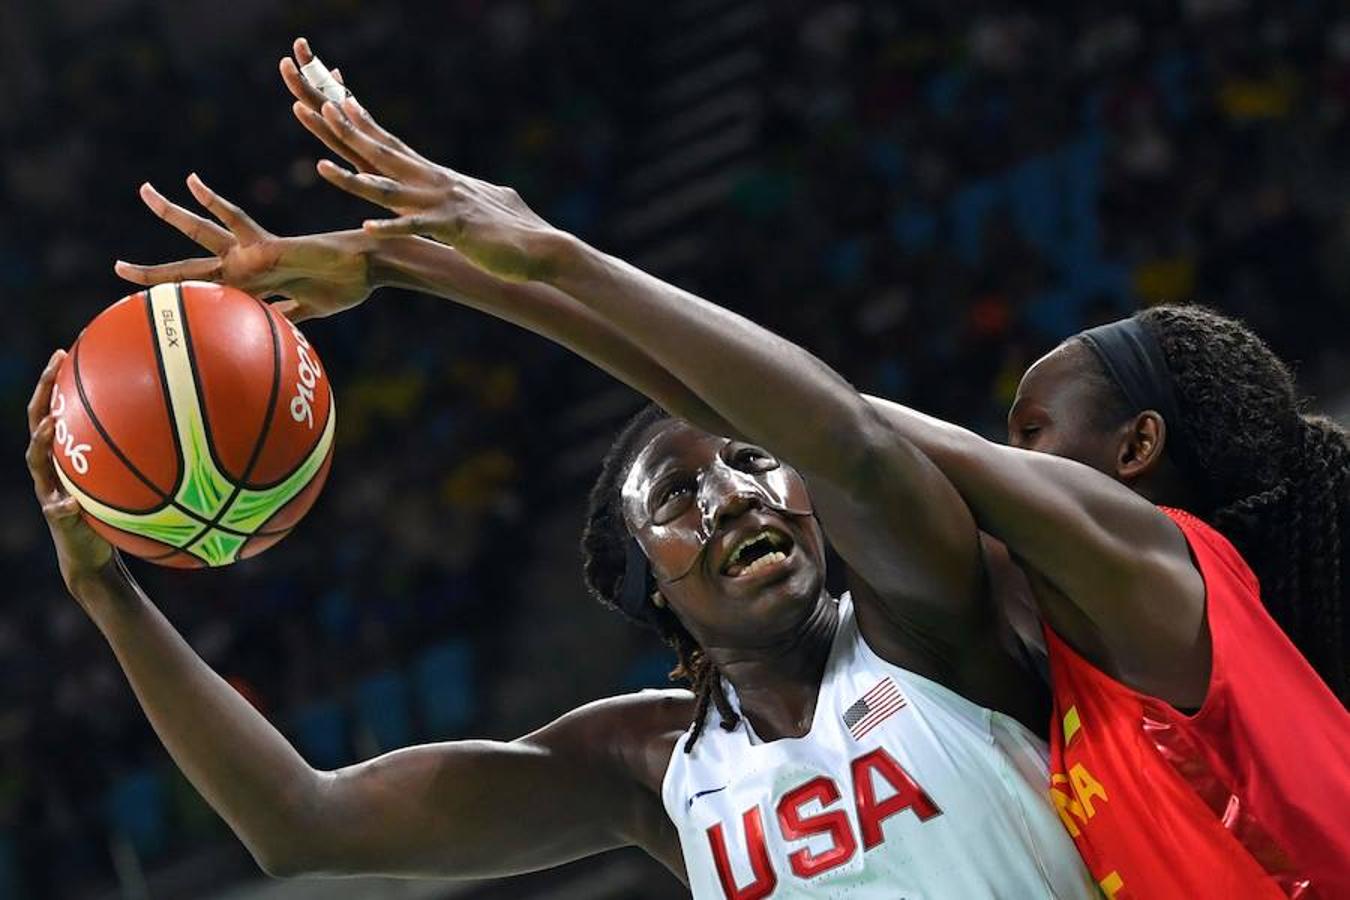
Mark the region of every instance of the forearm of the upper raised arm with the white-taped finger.
[[873, 421], [824, 362], [768, 329], [564, 237], [551, 283], [612, 324], [748, 440], [838, 472]]

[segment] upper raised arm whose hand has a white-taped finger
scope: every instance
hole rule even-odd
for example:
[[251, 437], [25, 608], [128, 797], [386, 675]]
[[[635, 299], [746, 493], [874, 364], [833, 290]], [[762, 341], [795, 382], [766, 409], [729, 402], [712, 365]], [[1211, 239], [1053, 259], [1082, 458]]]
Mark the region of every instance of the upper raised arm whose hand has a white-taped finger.
[[[312, 59], [301, 42], [296, 53], [301, 65]], [[282, 62], [296, 116], [359, 170], [323, 161], [320, 174], [398, 213], [364, 223], [367, 233], [429, 236], [497, 279], [570, 296], [620, 333], [614, 347], [636, 348], [643, 367], [668, 372], [711, 407], [728, 425], [722, 430], [763, 444], [811, 478], [832, 541], [894, 614], [933, 607], [937, 615], [911, 625], [941, 622], [942, 637], [957, 637], [972, 621], [961, 614], [983, 609], [979, 541], [961, 498], [922, 453], [888, 434], [833, 370], [753, 322], [559, 232], [510, 188], [432, 163], [354, 97], [342, 104], [321, 97], [296, 62]], [[905, 511], [914, 506], [927, 515]]]

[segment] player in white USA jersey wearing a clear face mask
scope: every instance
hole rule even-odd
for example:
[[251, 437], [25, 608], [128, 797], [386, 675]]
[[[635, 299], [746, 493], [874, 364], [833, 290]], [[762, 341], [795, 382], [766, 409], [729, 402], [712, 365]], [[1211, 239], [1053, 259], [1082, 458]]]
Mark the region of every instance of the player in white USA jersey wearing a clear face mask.
[[[279, 287], [297, 318], [360, 302], [370, 273], [416, 283], [429, 266], [458, 273], [447, 293], [475, 285], [448, 248], [274, 239], [192, 188], [231, 231], [146, 197], [215, 254], [213, 271], [119, 271]], [[734, 341], [740, 325], [725, 324]], [[1044, 745], [1015, 721], [1044, 715], [1035, 677], [1006, 640], [950, 484], [911, 447], [876, 440], [865, 401], [799, 348], [687, 349], [716, 374], [690, 385], [707, 407], [680, 412], [716, 409], [741, 437], [634, 421], [593, 495], [586, 575], [662, 630], [697, 694], [601, 700], [513, 742], [312, 769], [61, 491], [46, 414], [59, 354], [30, 405], [28, 466], [68, 588], [174, 760], [269, 872], [486, 877], [637, 845], [699, 899], [1094, 896], [1045, 796]], [[850, 565], [838, 600], [825, 534]]]

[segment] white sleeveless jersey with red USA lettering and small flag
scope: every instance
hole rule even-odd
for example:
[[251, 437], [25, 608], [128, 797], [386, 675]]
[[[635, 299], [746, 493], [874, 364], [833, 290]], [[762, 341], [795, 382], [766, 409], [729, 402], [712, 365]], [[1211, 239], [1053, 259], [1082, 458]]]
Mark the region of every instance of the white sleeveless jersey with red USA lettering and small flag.
[[662, 800], [697, 900], [1100, 897], [1045, 743], [876, 656], [848, 594], [805, 737], [764, 742], [741, 716], [687, 741]]

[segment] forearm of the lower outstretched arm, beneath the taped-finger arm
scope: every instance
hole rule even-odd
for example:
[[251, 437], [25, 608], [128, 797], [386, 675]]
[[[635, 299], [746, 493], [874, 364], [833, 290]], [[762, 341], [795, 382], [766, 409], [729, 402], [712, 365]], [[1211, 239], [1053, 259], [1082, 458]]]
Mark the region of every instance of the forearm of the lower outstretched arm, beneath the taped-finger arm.
[[379, 242], [375, 281], [454, 300], [520, 325], [589, 360], [666, 410], [713, 433], [729, 425], [678, 378], [586, 305], [540, 282], [505, 282], [423, 237]]

